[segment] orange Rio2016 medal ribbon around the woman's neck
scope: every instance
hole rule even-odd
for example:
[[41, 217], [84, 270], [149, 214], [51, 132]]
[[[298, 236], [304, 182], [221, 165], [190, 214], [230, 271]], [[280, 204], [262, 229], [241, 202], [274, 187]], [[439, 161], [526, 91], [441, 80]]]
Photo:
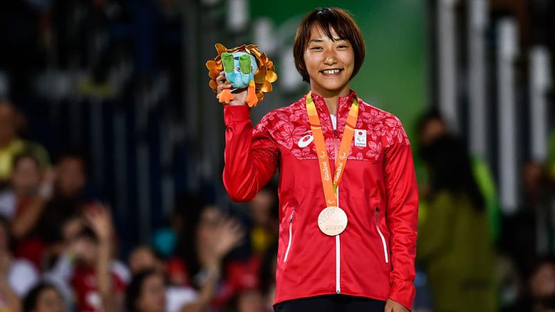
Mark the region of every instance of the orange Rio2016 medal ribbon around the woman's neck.
[[322, 125], [320, 124], [320, 119], [318, 118], [316, 105], [314, 105], [314, 101], [312, 101], [311, 93], [312, 92], [309, 92], [307, 94], [307, 114], [310, 128], [312, 130], [312, 136], [314, 137], [314, 144], [316, 145], [318, 164], [320, 164], [320, 175], [322, 177], [326, 207], [336, 207], [337, 186], [339, 185], [343, 171], [345, 171], [347, 158], [351, 148], [352, 137], [355, 135], [355, 125], [357, 124], [357, 118], [359, 116], [359, 102], [357, 101], [357, 98], [352, 100], [349, 116], [347, 117], [347, 122], [345, 123], [345, 130], [343, 130], [343, 138], [341, 139], [341, 144], [339, 145], [339, 152], [335, 155], [335, 174], [332, 182], [329, 163], [330, 158], [327, 156]]

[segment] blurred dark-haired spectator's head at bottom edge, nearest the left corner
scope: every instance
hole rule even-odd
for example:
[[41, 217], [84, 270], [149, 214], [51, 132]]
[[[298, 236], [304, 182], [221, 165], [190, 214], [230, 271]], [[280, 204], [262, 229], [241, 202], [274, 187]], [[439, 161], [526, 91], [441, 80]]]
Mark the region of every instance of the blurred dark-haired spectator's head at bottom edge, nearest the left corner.
[[23, 312], [67, 312], [62, 295], [51, 284], [35, 286], [23, 300]]

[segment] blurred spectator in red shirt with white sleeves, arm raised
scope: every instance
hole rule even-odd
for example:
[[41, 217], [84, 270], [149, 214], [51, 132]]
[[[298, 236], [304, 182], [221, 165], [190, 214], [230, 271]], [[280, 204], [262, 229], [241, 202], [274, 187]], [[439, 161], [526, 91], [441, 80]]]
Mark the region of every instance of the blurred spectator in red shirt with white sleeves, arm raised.
[[70, 237], [67, 250], [46, 278], [76, 298], [76, 311], [119, 311], [128, 280], [121, 263], [114, 261], [114, 232], [110, 213], [102, 205], [89, 205], [86, 225]]

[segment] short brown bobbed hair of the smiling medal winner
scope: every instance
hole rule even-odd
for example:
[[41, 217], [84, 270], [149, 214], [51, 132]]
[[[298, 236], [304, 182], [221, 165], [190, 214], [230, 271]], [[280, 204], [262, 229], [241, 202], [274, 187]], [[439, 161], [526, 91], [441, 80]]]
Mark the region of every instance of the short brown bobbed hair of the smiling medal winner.
[[359, 26], [352, 19], [350, 13], [341, 8], [318, 8], [309, 12], [302, 19], [295, 34], [293, 56], [295, 58], [295, 67], [297, 67], [297, 71], [302, 76], [302, 80], [307, 83], [310, 81], [304, 55], [310, 40], [310, 28], [314, 24], [320, 26], [325, 35], [331, 40], [334, 40], [332, 28], [341, 39], [349, 40], [350, 44], [352, 44], [352, 50], [355, 52], [355, 69], [352, 71], [350, 79], [355, 77], [364, 62], [364, 55], [366, 53], [364, 39], [362, 38]]

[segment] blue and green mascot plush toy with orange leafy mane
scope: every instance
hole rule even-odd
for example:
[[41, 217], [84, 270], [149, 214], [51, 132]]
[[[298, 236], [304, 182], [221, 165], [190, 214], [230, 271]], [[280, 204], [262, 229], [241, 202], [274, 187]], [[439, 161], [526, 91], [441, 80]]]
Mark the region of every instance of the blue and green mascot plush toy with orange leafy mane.
[[216, 44], [218, 56], [208, 60], [206, 67], [210, 80], [210, 87], [216, 92], [218, 84], [216, 78], [223, 70], [225, 80], [234, 89], [224, 89], [216, 96], [220, 103], [230, 103], [234, 98], [232, 91], [247, 88], [246, 103], [255, 107], [264, 100], [264, 94], [272, 91], [272, 83], [278, 79], [273, 62], [268, 60], [265, 53], [261, 53], [255, 44], [237, 46], [227, 49], [222, 44]]

